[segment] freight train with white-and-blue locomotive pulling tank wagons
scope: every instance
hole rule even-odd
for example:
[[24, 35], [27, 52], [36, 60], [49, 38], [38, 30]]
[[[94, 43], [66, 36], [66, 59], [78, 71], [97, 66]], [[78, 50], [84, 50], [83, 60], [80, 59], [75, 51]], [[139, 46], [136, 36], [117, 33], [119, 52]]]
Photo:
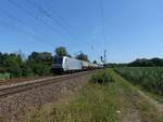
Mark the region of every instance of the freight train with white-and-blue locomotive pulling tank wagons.
[[55, 57], [52, 64], [53, 72], [75, 72], [100, 68], [103, 68], [103, 66], [67, 56]]

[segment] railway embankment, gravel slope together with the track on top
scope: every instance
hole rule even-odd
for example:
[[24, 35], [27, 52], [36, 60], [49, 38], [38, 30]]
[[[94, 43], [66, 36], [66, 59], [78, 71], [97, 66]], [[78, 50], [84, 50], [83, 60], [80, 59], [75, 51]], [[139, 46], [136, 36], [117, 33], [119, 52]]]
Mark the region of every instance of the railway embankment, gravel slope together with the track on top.
[[[95, 71], [68, 74], [58, 79], [45, 80], [41, 84], [30, 82], [27, 87], [25, 84], [21, 84], [24, 89], [20, 89], [21, 85], [18, 84], [20, 86], [12, 90], [13, 92], [10, 92], [10, 90], [7, 93], [0, 91], [0, 121], [17, 122], [22, 120], [33, 109], [39, 109], [47, 103], [58, 100], [60, 97], [79, 90], [88, 82], [92, 73]], [[8, 95], [8, 93], [10, 94]]]

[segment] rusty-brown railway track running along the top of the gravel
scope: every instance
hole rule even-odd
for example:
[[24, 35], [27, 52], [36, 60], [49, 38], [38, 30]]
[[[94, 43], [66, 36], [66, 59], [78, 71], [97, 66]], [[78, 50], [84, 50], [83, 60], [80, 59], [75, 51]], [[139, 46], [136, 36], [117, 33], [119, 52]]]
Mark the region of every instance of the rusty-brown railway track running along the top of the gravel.
[[72, 74], [51, 77], [51, 78], [35, 80], [30, 82], [22, 82], [22, 83], [0, 86], [0, 98], [8, 97], [14, 94], [20, 94], [22, 92], [25, 92], [35, 87], [46, 86], [46, 85], [58, 83], [58, 82], [64, 82], [66, 80], [70, 80], [76, 77], [82, 77], [88, 73], [92, 73], [95, 71], [96, 70], [83, 71], [83, 72], [77, 72], [77, 73], [72, 73]]

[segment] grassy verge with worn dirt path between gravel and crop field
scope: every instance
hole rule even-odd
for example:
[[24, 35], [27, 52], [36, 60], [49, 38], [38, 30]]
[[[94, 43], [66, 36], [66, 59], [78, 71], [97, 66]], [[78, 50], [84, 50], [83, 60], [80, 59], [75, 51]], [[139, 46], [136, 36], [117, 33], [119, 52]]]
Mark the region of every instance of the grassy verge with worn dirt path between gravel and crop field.
[[163, 114], [137, 87], [112, 69], [106, 72], [114, 82], [88, 83], [72, 100], [46, 106], [28, 122], [163, 122]]

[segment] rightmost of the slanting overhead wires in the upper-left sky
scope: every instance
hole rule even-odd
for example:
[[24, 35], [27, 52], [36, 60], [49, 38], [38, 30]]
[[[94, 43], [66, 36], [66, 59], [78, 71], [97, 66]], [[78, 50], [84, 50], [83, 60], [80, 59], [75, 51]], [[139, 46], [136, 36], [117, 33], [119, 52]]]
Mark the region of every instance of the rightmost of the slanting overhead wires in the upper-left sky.
[[51, 21], [53, 21], [58, 26], [60, 26], [62, 29], [64, 29], [67, 33], [72, 36], [72, 32], [70, 29], [67, 29], [65, 26], [63, 26], [55, 17], [53, 17], [47, 10], [41, 8], [36, 2], [32, 2], [29, 0], [26, 0], [27, 3], [32, 4], [34, 8], [36, 8], [40, 13], [45, 14], [47, 17], [49, 17]]

